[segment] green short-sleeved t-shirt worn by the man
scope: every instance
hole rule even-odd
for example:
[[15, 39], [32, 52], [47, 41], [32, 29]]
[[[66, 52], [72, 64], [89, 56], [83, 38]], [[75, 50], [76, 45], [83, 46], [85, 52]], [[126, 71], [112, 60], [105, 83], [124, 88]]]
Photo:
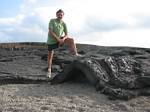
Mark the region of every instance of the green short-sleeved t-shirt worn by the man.
[[[51, 19], [49, 22], [49, 28], [60, 38], [63, 33], [67, 33], [67, 26], [63, 21], [57, 19]], [[47, 44], [57, 43], [56, 39], [49, 33], [47, 38]]]

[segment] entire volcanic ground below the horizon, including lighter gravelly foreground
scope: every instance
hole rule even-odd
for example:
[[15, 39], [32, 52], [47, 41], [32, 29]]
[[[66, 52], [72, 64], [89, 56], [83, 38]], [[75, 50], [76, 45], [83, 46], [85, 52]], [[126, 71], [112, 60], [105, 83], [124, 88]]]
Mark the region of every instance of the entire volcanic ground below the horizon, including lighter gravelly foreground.
[[66, 48], [50, 80], [44, 43], [0, 44], [0, 111], [150, 111], [150, 49], [78, 44], [83, 57], [73, 57]]

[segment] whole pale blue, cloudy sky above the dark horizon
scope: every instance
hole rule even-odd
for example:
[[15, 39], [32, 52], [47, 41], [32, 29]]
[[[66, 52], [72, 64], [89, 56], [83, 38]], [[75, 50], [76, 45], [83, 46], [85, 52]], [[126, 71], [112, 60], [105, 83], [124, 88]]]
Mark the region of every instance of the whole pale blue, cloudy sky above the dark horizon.
[[46, 42], [63, 9], [76, 43], [150, 48], [149, 0], [1, 0], [0, 43]]

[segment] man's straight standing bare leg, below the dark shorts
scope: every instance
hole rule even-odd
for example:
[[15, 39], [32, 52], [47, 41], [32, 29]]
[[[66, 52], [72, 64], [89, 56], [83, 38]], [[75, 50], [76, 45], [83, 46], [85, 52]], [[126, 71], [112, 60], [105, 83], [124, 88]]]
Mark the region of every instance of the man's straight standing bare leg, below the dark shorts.
[[48, 51], [48, 74], [51, 75], [51, 69], [52, 69], [52, 60], [53, 60], [54, 51]]

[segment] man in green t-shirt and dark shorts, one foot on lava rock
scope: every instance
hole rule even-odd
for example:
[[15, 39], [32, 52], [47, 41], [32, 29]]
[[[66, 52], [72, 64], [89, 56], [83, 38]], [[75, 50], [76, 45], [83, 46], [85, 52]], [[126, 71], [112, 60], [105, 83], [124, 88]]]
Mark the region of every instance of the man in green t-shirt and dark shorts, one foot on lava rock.
[[48, 78], [51, 77], [51, 68], [52, 68], [54, 49], [60, 47], [63, 44], [66, 44], [70, 47], [71, 53], [73, 55], [78, 55], [74, 40], [68, 37], [66, 23], [62, 20], [64, 17], [64, 11], [59, 9], [56, 12], [56, 17], [57, 18], [51, 19], [49, 22], [49, 31], [48, 31], [48, 39], [47, 39], [47, 45], [48, 45], [47, 77]]

